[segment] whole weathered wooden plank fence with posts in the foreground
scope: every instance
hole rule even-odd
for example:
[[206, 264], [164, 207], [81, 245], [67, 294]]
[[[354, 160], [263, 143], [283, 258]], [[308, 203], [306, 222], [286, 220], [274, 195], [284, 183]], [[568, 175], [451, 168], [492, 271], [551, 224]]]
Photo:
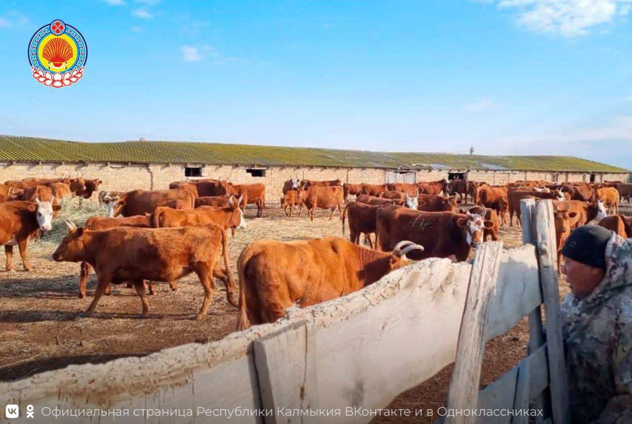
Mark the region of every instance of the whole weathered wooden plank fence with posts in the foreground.
[[[100, 422], [131, 421], [129, 411], [174, 408], [178, 413], [160, 421], [219, 422], [227, 411], [239, 411], [235, 422], [368, 422], [375, 418], [371, 411], [456, 358], [446, 411], [461, 413], [447, 421], [475, 422], [465, 409], [532, 408], [543, 411], [538, 422], [568, 422], [552, 214], [550, 201], [523, 201], [523, 247], [502, 250], [501, 243], [487, 242], [472, 263], [416, 262], [359, 292], [292, 309], [274, 324], [205, 345], [2, 382], [0, 400], [74, 411], [63, 422], [84, 422], [76, 413], [88, 408], [130, 413], [112, 412]], [[485, 340], [525, 316], [528, 356], [479, 392]], [[498, 415], [480, 422], [529, 418]]]

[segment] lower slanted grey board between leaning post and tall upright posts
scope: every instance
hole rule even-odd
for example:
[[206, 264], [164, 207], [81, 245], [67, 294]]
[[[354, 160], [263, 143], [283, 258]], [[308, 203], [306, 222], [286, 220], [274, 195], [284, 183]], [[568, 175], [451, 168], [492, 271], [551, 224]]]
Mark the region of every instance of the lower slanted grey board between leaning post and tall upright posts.
[[[544, 391], [549, 385], [549, 374], [547, 372], [547, 350], [546, 345], [540, 346], [538, 350], [531, 355], [526, 356], [516, 367], [511, 368], [503, 374], [499, 379], [489, 384], [485, 389], [478, 392], [478, 408], [479, 409], [506, 409], [513, 408], [516, 399], [516, 389], [518, 383], [519, 368], [523, 363], [530, 370], [537, 372], [529, 372], [525, 382], [528, 396]], [[526, 407], [528, 408], [528, 406]], [[511, 417], [485, 417], [481, 418], [481, 423], [509, 423]]]

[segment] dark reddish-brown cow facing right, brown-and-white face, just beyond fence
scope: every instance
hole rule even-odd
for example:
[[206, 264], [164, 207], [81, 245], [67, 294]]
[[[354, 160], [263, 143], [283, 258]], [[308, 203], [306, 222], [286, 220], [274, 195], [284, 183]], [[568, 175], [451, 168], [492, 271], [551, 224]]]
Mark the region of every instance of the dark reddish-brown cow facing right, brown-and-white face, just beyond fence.
[[391, 250], [401, 240], [425, 246], [413, 259], [449, 257], [465, 261], [471, 247], [483, 242], [483, 231], [492, 221], [482, 215], [452, 212], [421, 212], [401, 206], [383, 206], [377, 211], [377, 249]]

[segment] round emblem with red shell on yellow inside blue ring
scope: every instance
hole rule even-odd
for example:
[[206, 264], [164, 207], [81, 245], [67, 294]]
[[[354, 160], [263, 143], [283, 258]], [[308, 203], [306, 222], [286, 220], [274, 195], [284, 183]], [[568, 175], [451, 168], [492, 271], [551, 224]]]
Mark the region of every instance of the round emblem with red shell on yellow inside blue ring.
[[37, 30], [28, 44], [33, 78], [49, 87], [76, 83], [83, 76], [87, 58], [83, 35], [59, 19]]

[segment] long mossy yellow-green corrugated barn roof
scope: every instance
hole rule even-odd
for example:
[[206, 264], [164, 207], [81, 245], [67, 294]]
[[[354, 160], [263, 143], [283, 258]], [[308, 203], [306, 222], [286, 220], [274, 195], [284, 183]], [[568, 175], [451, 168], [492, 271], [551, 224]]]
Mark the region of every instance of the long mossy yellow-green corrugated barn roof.
[[629, 172], [573, 156], [484, 156], [255, 146], [183, 141], [87, 143], [0, 135], [0, 160], [16, 162], [207, 163], [401, 169]]

